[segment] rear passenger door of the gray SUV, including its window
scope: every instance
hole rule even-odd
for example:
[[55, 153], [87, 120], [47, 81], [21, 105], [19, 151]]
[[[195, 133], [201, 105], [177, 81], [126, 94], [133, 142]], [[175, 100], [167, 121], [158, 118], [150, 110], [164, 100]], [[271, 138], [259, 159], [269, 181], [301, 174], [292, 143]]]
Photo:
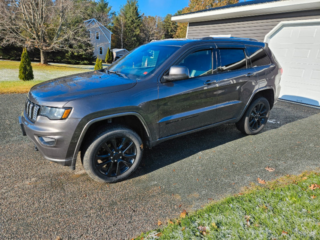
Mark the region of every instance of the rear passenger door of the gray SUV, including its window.
[[257, 88], [257, 74], [250, 66], [244, 45], [217, 45], [218, 96], [216, 122], [241, 115], [252, 92]]

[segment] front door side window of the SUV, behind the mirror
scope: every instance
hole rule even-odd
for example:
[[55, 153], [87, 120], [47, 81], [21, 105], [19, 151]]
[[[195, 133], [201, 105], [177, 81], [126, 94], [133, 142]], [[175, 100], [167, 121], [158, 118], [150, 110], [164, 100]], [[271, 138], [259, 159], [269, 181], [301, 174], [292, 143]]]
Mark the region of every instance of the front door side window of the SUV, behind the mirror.
[[195, 51], [187, 55], [177, 65], [186, 66], [189, 76], [200, 76], [212, 73], [212, 51], [211, 49]]

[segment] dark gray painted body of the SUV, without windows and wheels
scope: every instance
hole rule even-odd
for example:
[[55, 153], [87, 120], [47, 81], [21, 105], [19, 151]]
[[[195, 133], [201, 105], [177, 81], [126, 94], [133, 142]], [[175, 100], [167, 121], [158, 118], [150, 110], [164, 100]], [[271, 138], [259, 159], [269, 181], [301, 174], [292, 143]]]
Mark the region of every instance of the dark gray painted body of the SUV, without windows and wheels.
[[[71, 107], [72, 111], [64, 120], [49, 120], [38, 115], [35, 122], [30, 121], [23, 111], [19, 117], [22, 129], [46, 159], [74, 168], [84, 134], [92, 123], [100, 120], [136, 116], [147, 132], [144, 143], [153, 146], [189, 132], [238, 121], [258, 91], [269, 98], [271, 106], [277, 99], [280, 90], [279, 66], [267, 44], [236, 38], [163, 40], [149, 44], [173, 43], [181, 47], [145, 79], [128, 79], [91, 71], [33, 86], [28, 99], [35, 104]], [[264, 66], [265, 69], [248, 67], [174, 82], [161, 81], [170, 66], [186, 54], [202, 48], [215, 48], [216, 45], [263, 47], [273, 64]], [[255, 72], [258, 77], [250, 75]], [[210, 84], [207, 84], [208, 81]], [[265, 89], [271, 89], [272, 94], [270, 91], [263, 93]], [[43, 145], [39, 136], [55, 138], [55, 145]]]

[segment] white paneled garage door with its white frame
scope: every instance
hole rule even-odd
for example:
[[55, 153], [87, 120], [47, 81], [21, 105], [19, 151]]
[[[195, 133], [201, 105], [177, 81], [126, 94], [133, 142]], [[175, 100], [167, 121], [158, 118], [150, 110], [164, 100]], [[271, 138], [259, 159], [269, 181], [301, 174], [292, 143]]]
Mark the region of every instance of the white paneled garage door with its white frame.
[[283, 21], [264, 40], [283, 68], [279, 98], [320, 106], [320, 19]]

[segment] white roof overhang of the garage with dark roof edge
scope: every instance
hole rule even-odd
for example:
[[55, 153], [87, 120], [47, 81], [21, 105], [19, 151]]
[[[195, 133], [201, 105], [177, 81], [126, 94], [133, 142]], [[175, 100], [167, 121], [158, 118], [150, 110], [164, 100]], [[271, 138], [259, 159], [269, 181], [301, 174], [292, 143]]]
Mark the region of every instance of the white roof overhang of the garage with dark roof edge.
[[172, 16], [171, 20], [176, 22], [196, 22], [289, 11], [303, 11], [318, 8], [320, 8], [319, 0], [280, 0], [222, 9], [212, 8], [204, 11], [190, 12]]

